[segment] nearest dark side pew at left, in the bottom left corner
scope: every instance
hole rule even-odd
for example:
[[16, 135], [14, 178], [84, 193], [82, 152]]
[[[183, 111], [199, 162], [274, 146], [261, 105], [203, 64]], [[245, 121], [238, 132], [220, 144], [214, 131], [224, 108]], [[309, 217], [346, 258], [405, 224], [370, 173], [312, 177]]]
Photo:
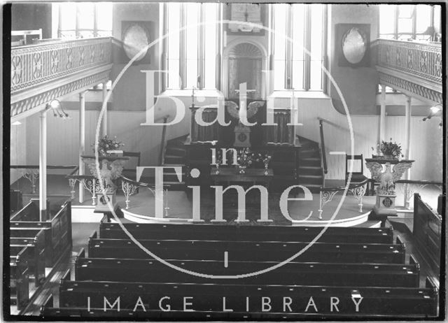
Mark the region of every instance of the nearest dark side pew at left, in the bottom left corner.
[[9, 261], [10, 306], [17, 306], [18, 310], [25, 308], [29, 301], [29, 268], [26, 257], [22, 257], [26, 253], [25, 247]]

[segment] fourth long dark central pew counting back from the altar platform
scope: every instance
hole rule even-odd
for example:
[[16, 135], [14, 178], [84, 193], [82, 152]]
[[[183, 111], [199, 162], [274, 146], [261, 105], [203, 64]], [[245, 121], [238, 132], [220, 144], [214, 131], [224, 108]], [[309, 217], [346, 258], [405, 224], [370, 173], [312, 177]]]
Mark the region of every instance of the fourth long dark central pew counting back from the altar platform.
[[[262, 297], [269, 296], [272, 312], [283, 311], [283, 297], [293, 302], [294, 312], [303, 312], [312, 296], [319, 313], [331, 314], [329, 300], [337, 297], [339, 313], [356, 315], [356, 302], [359, 297], [360, 315], [436, 315], [438, 291], [427, 278], [426, 288], [402, 287], [330, 287], [303, 285], [239, 285], [239, 284], [178, 284], [144, 282], [91, 282], [70, 281], [67, 271], [59, 286], [59, 307], [104, 308], [104, 298], [109, 303], [120, 297], [120, 310], [132, 310], [141, 297], [144, 308], [158, 309], [162, 297], [168, 296], [165, 304], [172, 310], [183, 310], [183, 297], [192, 297], [195, 310], [219, 311], [226, 308], [234, 312], [247, 312], [246, 297], [249, 297], [249, 310], [261, 310]], [[165, 306], [165, 305], [164, 305]], [[141, 306], [139, 310], [143, 310]]]

